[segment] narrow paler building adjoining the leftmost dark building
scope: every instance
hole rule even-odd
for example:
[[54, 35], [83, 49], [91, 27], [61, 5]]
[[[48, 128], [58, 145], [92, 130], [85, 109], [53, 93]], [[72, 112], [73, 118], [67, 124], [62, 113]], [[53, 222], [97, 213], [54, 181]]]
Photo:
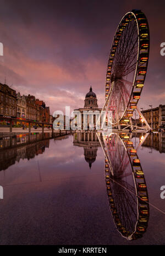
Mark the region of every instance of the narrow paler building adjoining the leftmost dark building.
[[26, 99], [25, 96], [20, 96], [20, 92], [17, 94], [17, 117], [26, 118]]

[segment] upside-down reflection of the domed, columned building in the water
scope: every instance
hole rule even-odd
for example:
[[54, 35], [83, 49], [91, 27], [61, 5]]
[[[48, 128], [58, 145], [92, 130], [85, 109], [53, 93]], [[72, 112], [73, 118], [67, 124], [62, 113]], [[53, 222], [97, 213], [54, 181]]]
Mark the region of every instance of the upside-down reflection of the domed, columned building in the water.
[[83, 146], [85, 161], [89, 163], [89, 167], [91, 168], [92, 163], [96, 160], [97, 148], [101, 146], [96, 132], [74, 133], [73, 145]]

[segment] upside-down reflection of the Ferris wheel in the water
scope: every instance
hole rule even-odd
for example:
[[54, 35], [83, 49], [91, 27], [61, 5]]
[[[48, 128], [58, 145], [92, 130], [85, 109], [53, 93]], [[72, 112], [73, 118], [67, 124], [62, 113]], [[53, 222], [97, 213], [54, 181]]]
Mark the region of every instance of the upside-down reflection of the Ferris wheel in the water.
[[114, 224], [124, 238], [140, 238], [149, 221], [149, 197], [140, 160], [128, 134], [102, 137], [98, 136], [106, 156], [106, 188]]

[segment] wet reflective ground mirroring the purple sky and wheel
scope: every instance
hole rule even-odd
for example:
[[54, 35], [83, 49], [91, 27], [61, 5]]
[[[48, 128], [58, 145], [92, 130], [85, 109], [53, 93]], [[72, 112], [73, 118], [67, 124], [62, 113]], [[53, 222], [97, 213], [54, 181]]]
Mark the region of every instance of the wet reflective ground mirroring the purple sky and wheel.
[[[0, 244], [165, 244], [165, 199], [160, 197], [165, 135], [144, 138], [1, 136]], [[130, 155], [128, 141], [136, 157]], [[135, 158], [138, 167], [133, 166]], [[139, 168], [146, 186], [142, 189], [134, 177]], [[141, 201], [141, 193], [147, 202]]]

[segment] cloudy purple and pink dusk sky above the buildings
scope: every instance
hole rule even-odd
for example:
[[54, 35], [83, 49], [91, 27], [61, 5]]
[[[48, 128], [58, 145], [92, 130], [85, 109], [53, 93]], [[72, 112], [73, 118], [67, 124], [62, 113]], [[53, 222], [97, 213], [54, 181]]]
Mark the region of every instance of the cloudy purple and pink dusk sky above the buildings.
[[139, 107], [165, 104], [164, 1], [0, 0], [0, 82], [55, 110], [84, 107], [90, 85], [104, 103], [106, 69], [120, 19], [141, 9], [150, 26], [150, 58]]

